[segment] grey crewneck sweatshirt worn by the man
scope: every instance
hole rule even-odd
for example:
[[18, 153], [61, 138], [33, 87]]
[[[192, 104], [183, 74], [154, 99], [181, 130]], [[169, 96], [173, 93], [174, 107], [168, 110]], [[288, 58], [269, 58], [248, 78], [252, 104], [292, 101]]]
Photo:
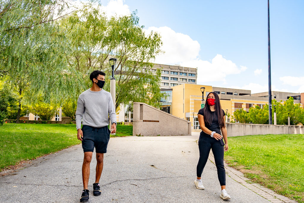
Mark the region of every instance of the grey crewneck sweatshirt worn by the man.
[[116, 113], [112, 96], [109, 92], [101, 90], [98, 92], [85, 90], [77, 100], [76, 128], [81, 128], [81, 118], [83, 125], [95, 128], [109, 125], [108, 118], [112, 123], [116, 123]]

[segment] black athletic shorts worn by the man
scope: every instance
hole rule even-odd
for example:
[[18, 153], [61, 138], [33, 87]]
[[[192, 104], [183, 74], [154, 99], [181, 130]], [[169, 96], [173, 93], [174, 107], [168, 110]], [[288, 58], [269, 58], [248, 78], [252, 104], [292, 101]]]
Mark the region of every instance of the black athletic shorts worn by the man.
[[107, 146], [110, 139], [110, 130], [108, 126], [94, 128], [88, 125], [83, 125], [82, 149], [83, 152], [107, 153]]

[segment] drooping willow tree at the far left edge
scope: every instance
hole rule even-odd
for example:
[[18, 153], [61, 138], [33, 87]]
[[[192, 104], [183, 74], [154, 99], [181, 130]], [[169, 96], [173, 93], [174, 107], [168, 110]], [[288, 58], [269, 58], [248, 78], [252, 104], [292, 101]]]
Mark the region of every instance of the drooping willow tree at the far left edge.
[[66, 8], [66, 0], [0, 1], [0, 79], [20, 96], [17, 123], [22, 102], [35, 103], [37, 95], [46, 102], [60, 101], [79, 87], [56, 22]]

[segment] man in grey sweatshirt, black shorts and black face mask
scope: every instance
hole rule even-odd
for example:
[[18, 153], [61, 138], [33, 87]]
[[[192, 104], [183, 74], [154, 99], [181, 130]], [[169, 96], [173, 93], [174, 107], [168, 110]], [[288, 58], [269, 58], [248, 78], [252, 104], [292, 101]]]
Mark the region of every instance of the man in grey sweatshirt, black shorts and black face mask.
[[[79, 95], [76, 110], [77, 138], [81, 140], [84, 152], [82, 164], [83, 191], [80, 202], [87, 202], [89, 199], [88, 181], [94, 147], [97, 166], [93, 195], [101, 194], [99, 179], [103, 168], [103, 154], [107, 152], [110, 132], [116, 132], [116, 113], [112, 96], [102, 89], [105, 84], [105, 73], [95, 70], [91, 73], [90, 79], [92, 80], [92, 87]], [[111, 131], [108, 128], [109, 117], [112, 123]]]

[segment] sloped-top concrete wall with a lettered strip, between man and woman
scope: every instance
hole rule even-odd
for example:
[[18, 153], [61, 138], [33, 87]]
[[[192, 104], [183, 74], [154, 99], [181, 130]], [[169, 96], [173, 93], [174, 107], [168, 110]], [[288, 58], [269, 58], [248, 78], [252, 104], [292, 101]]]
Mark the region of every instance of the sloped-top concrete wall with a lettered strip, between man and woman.
[[191, 135], [191, 122], [146, 103], [133, 103], [133, 135]]

